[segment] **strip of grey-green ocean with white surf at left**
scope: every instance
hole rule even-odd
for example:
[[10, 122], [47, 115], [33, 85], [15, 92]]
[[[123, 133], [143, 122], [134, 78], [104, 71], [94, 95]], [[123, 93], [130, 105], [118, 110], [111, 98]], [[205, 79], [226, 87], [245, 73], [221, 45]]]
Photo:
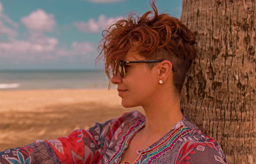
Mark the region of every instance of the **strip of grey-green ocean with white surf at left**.
[[107, 89], [108, 77], [99, 70], [0, 71], [0, 91], [22, 89]]

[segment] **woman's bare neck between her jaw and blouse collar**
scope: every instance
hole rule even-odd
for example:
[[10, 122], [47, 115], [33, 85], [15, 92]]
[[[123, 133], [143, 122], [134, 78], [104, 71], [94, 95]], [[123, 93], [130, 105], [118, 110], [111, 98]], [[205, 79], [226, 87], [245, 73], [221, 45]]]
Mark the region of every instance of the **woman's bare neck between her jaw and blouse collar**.
[[[166, 91], [164, 91], [166, 93]], [[156, 95], [143, 105], [146, 116], [143, 135], [145, 137], [163, 137], [173, 126], [183, 118], [180, 111], [180, 98], [173, 94]]]

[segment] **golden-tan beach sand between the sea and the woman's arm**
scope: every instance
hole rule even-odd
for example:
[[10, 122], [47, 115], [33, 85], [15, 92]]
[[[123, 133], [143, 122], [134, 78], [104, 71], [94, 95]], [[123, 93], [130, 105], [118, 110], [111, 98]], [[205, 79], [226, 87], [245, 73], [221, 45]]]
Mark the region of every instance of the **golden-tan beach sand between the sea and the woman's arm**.
[[131, 110], [143, 111], [122, 107], [114, 89], [0, 91], [0, 151], [64, 137]]

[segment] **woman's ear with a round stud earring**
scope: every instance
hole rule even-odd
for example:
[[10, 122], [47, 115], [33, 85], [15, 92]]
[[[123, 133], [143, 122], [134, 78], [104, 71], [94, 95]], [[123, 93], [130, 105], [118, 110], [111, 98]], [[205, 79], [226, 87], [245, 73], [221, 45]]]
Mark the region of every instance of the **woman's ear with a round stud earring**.
[[164, 60], [158, 64], [158, 68], [158, 78], [159, 80], [163, 80], [163, 82], [165, 82], [172, 72], [172, 63], [168, 60]]

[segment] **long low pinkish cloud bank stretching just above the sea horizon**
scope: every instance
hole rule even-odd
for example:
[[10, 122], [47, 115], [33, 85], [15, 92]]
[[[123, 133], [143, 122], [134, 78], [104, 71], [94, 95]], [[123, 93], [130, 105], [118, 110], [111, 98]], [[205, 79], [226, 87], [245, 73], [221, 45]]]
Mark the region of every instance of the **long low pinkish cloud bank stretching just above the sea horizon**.
[[59, 47], [58, 40], [50, 37], [44, 37], [41, 40], [38, 39], [38, 41], [30, 38], [28, 41], [12, 40], [0, 42], [0, 59], [8, 59], [11, 63], [13, 63], [13, 59], [23, 64], [25, 61], [33, 61], [35, 63], [44, 61], [47, 64], [47, 62], [51, 61], [61, 61], [62, 59], [68, 61], [71, 59], [77, 60], [77, 62], [81, 60], [81, 62], [83, 61], [93, 66], [97, 54], [97, 48], [95, 48], [94, 43], [74, 41], [71, 48]]

